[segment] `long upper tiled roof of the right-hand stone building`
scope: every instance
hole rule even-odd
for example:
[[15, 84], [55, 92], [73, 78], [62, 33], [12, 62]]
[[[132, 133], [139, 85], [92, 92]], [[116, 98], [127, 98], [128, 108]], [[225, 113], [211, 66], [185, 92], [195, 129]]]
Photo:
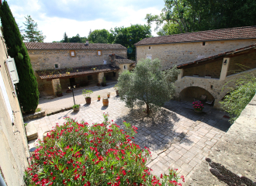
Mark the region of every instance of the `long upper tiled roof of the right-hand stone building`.
[[189, 43], [211, 40], [240, 40], [256, 38], [256, 26], [244, 26], [230, 29], [213, 29], [196, 33], [181, 33], [170, 36], [147, 37], [135, 43], [135, 46], [164, 43]]

